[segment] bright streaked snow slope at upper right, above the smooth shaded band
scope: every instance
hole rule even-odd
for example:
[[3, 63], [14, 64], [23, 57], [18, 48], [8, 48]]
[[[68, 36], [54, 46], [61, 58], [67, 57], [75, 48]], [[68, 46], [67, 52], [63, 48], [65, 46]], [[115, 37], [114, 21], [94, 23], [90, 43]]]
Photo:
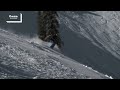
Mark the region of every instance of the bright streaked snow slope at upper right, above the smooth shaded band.
[[120, 58], [120, 11], [66, 12], [65, 23], [78, 35]]

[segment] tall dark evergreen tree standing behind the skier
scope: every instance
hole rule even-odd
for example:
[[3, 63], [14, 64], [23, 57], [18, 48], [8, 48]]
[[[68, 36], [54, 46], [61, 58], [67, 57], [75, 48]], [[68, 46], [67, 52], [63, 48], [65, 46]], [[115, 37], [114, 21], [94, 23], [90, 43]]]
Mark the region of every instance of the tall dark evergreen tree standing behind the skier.
[[38, 12], [38, 36], [41, 40], [53, 42], [51, 48], [57, 44], [58, 48], [61, 49], [63, 42], [61, 41], [60, 34], [58, 31], [59, 23], [57, 20], [58, 14], [56, 11], [39, 11]]

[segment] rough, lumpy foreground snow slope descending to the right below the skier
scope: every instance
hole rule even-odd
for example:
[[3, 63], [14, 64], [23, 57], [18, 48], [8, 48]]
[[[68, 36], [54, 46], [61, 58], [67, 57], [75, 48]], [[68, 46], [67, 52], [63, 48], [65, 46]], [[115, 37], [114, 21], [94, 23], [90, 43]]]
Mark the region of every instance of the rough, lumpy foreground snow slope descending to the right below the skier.
[[0, 29], [0, 78], [107, 79], [108, 76], [82, 65], [48, 46], [31, 42]]

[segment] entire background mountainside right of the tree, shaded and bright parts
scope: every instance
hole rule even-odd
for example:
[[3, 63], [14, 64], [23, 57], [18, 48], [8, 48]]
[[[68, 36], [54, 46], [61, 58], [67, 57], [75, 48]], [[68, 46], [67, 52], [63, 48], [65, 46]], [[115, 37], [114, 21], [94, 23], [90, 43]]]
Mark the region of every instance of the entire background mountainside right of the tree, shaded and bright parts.
[[120, 78], [120, 11], [61, 11], [59, 16], [65, 55]]

